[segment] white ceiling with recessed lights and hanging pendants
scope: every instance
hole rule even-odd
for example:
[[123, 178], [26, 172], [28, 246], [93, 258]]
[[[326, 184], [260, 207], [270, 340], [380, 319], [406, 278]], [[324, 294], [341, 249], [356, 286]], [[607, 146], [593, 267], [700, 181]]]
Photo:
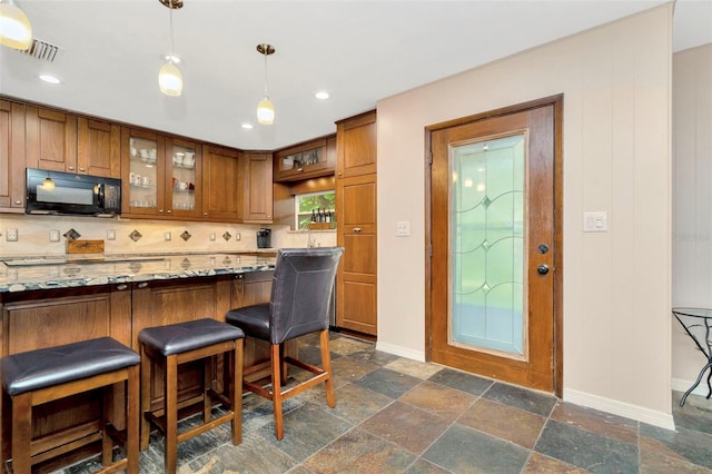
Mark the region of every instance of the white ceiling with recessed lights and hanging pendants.
[[[184, 95], [158, 90], [169, 10], [158, 0], [18, 0], [53, 62], [0, 47], [0, 93], [241, 149], [335, 131], [377, 100], [665, 3], [662, 0], [184, 0]], [[256, 124], [267, 62], [273, 126]], [[712, 42], [712, 0], [678, 0], [674, 51]], [[51, 72], [58, 86], [41, 82]], [[318, 101], [317, 90], [332, 98]], [[255, 125], [244, 130], [244, 122]]]

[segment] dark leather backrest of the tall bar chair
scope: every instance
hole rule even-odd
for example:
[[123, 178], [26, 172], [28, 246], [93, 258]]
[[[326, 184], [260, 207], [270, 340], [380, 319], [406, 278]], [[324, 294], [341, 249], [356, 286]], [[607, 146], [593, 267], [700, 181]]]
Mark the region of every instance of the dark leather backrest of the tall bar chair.
[[343, 247], [283, 248], [269, 302], [271, 344], [327, 329]]

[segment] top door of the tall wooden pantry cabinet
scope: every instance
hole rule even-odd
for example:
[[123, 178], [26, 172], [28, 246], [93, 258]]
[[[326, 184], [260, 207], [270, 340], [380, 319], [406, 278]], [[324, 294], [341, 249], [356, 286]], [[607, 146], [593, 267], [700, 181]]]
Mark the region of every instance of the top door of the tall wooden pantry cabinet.
[[376, 113], [366, 112], [336, 122], [338, 134], [337, 178], [376, 172]]

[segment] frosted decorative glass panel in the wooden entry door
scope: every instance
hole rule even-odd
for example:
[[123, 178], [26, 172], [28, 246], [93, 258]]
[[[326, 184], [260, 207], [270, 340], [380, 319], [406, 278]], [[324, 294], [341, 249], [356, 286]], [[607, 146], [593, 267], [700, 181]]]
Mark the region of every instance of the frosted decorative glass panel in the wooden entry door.
[[526, 357], [525, 161], [518, 134], [453, 146], [451, 344]]

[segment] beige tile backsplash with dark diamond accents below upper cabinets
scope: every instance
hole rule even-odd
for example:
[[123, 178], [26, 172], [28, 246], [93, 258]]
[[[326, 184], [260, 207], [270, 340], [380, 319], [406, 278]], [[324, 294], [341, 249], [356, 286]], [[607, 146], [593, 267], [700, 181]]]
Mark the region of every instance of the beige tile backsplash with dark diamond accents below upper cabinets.
[[[250, 251], [257, 248], [257, 230], [264, 227], [271, 229], [274, 248], [336, 245], [334, 230], [291, 231], [289, 226], [0, 214], [0, 257], [63, 255], [65, 234], [72, 229], [79, 239], [105, 240], [109, 255]], [[17, 241], [7, 240], [12, 229], [18, 231]], [[59, 241], [50, 241], [57, 236]]]

